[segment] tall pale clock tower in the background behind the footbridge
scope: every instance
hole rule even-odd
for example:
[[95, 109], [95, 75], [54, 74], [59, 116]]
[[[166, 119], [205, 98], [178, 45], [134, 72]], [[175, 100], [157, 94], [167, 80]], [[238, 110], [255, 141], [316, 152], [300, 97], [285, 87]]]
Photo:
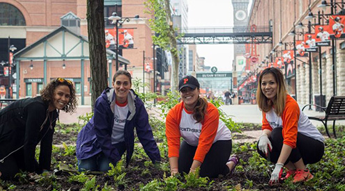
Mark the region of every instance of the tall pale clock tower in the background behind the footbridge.
[[[248, 25], [248, 5], [250, 0], [232, 0], [233, 5], [233, 26], [234, 32], [243, 32]], [[233, 88], [237, 88], [238, 77], [241, 76], [245, 69], [246, 59], [245, 44], [234, 44], [234, 62], [233, 62]]]

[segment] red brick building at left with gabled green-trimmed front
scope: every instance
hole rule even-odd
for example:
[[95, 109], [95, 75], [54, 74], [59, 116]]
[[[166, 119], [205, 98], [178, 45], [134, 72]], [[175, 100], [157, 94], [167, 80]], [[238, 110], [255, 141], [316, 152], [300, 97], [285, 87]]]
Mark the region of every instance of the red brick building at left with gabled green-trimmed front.
[[[135, 39], [135, 49], [119, 50], [119, 63], [121, 66], [128, 64], [127, 69], [134, 78], [143, 79], [144, 76], [153, 91], [153, 74], [144, 72], [143, 75], [144, 51], [145, 57], [153, 58], [153, 32], [148, 26], [151, 15], [144, 13], [144, 9], [144, 0], [105, 0], [105, 28], [114, 28], [107, 20], [113, 12], [123, 18], [140, 16], [140, 20], [131, 19], [119, 26], [132, 28]], [[63, 17], [65, 23], [61, 20]], [[70, 21], [66, 21], [68, 18]], [[84, 97], [82, 103], [89, 104], [91, 74], [87, 33], [86, 1], [0, 0], [0, 61], [5, 63], [3, 67], [0, 65], [1, 85], [8, 85], [4, 70], [8, 65], [7, 44], [10, 41], [17, 47], [12, 69], [15, 76], [11, 79], [13, 97], [34, 97], [51, 78], [63, 77], [75, 83], [80, 97]], [[107, 58], [109, 76], [113, 76], [116, 72], [114, 51], [107, 50]], [[17, 86], [20, 86], [18, 96]]]

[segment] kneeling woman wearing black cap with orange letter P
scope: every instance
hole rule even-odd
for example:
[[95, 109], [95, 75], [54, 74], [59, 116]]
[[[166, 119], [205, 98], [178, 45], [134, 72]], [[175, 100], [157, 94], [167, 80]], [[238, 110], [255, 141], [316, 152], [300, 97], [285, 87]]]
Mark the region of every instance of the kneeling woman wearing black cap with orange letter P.
[[220, 120], [217, 108], [199, 97], [200, 85], [193, 76], [182, 78], [178, 90], [182, 101], [171, 108], [166, 120], [171, 175], [194, 172], [197, 167], [200, 176], [229, 174], [238, 157], [230, 157], [231, 132]]

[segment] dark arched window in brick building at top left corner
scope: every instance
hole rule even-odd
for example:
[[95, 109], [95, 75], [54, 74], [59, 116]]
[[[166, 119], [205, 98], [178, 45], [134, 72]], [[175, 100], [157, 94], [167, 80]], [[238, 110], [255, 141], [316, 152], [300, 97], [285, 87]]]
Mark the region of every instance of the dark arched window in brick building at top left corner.
[[15, 6], [0, 3], [0, 26], [25, 26], [23, 14]]

